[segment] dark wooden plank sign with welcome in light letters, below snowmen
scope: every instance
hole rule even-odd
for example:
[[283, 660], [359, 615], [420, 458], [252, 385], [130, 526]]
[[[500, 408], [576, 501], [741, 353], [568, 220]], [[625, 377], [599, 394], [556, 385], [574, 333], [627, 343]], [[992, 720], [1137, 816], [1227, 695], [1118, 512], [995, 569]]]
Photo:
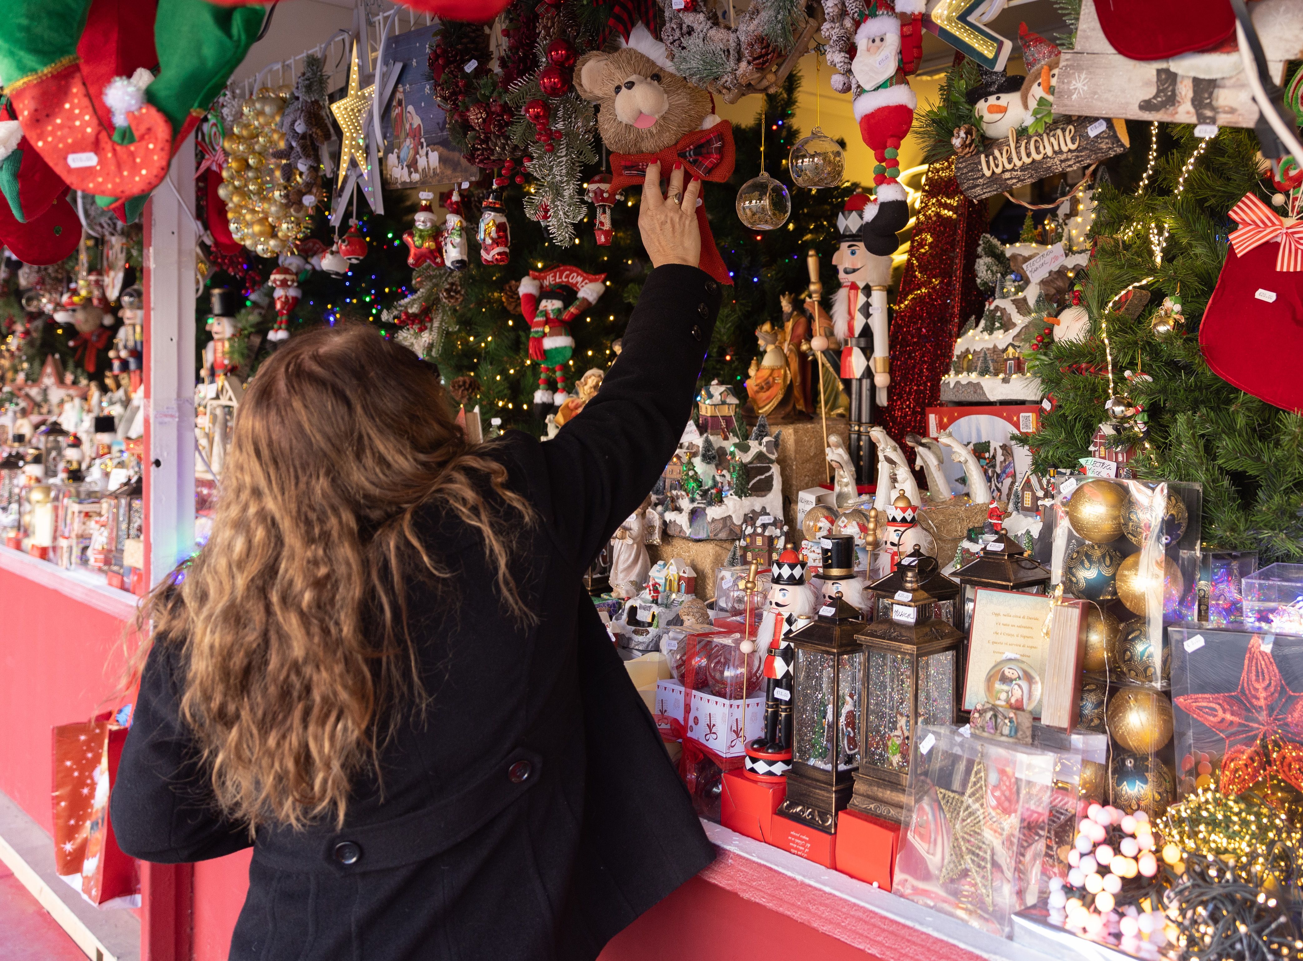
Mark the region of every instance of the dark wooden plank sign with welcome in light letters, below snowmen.
[[1006, 140], [995, 141], [980, 154], [959, 158], [955, 179], [968, 197], [980, 201], [1052, 173], [1089, 167], [1130, 145], [1122, 120], [1068, 117], [1040, 133], [1010, 130]]

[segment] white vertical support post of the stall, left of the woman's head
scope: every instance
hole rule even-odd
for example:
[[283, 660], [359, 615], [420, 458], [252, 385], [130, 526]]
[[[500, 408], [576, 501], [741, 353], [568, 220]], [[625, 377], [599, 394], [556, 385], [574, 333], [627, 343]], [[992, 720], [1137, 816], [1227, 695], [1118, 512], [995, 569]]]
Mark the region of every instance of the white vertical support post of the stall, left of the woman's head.
[[146, 211], [150, 585], [194, 553], [194, 134], [172, 158], [168, 180]]

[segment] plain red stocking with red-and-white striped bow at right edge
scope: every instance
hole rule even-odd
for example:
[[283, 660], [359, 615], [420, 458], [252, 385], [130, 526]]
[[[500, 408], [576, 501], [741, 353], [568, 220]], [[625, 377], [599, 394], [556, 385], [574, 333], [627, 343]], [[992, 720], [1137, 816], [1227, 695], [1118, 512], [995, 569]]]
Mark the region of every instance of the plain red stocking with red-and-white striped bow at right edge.
[[1214, 374], [1286, 411], [1303, 412], [1303, 222], [1253, 194], [1230, 210], [1239, 229], [1199, 325]]

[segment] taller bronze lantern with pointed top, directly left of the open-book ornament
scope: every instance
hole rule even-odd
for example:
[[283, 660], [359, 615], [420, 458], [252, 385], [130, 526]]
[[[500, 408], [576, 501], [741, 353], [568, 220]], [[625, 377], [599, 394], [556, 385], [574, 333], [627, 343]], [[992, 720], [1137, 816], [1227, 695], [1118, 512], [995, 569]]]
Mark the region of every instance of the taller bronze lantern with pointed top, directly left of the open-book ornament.
[[[851, 797], [856, 811], [895, 823], [908, 801], [915, 726], [952, 724], [959, 709], [964, 638], [934, 617], [937, 599], [923, 588], [917, 565], [902, 566], [898, 574], [900, 589], [891, 596], [889, 614], [856, 638], [865, 648], [860, 679], [864, 711], [860, 769]], [[877, 585], [873, 589], [877, 593]]]

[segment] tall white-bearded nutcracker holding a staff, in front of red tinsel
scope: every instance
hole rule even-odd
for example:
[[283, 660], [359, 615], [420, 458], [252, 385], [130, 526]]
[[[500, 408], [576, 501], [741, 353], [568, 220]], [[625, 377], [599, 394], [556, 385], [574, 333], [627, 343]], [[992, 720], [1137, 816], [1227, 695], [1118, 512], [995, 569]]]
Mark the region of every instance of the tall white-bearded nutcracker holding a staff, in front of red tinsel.
[[[864, 244], [864, 235], [878, 213], [878, 203], [866, 194], [851, 196], [837, 215], [842, 240], [833, 254], [833, 266], [842, 287], [833, 296], [831, 319], [817, 301], [805, 304], [818, 331], [810, 338], [810, 347], [825, 352], [851, 396], [851, 463], [860, 484], [873, 482], [877, 458], [869, 439], [869, 424], [873, 422], [874, 400], [886, 407], [886, 389], [891, 382], [887, 342], [891, 257], [869, 253]], [[834, 353], [838, 347], [839, 355]]]

